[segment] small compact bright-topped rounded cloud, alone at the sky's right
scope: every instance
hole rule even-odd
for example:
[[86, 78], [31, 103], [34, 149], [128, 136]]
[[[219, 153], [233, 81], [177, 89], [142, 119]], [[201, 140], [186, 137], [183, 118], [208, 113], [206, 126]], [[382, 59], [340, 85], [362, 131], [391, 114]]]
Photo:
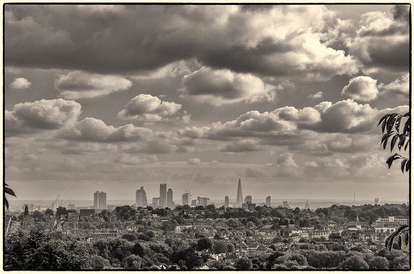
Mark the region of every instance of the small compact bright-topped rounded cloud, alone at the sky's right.
[[341, 95], [358, 101], [372, 101], [378, 95], [377, 80], [368, 76], [358, 76], [349, 80]]

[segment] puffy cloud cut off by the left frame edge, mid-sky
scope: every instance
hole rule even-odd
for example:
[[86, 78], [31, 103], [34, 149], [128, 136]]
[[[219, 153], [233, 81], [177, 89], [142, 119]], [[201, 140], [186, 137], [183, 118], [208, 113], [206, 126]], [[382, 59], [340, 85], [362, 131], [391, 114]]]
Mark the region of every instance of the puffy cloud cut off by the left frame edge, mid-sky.
[[6, 133], [57, 130], [75, 124], [80, 113], [80, 104], [64, 99], [16, 104], [12, 111], [5, 112]]

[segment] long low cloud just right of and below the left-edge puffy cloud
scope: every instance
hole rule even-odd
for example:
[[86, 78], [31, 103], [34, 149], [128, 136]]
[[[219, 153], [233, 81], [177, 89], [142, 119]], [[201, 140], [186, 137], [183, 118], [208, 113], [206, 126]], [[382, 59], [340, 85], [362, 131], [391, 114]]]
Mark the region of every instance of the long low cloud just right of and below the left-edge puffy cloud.
[[73, 128], [63, 130], [59, 136], [80, 141], [117, 142], [149, 140], [154, 137], [154, 133], [149, 128], [135, 127], [133, 124], [115, 128], [107, 126], [100, 119], [86, 117]]

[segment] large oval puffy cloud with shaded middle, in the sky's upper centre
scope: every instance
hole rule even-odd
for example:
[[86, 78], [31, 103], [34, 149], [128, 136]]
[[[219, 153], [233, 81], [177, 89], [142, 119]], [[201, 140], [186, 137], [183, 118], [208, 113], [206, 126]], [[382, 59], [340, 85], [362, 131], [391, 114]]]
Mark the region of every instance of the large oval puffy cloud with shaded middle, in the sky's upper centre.
[[197, 101], [216, 106], [240, 101], [273, 101], [276, 97], [274, 86], [254, 75], [207, 67], [185, 75], [181, 91]]

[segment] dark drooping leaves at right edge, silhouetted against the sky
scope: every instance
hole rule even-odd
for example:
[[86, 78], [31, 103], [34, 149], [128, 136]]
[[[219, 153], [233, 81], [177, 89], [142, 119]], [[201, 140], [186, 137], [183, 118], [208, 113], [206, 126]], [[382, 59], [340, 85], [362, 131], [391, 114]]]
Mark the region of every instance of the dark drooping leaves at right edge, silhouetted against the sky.
[[[404, 128], [402, 128], [402, 119], [406, 118]], [[399, 152], [401, 152], [401, 149], [403, 148], [404, 151], [409, 148], [410, 144], [410, 124], [411, 124], [411, 115], [410, 112], [406, 112], [404, 115], [400, 115], [399, 113], [390, 113], [387, 115], [384, 115], [379, 120], [379, 124], [382, 124], [382, 139], [381, 144], [384, 149], [386, 149], [386, 145], [390, 144], [390, 151], [393, 152], [393, 148], [395, 144], [397, 144]], [[402, 128], [402, 131], [400, 130]], [[390, 142], [388, 142], [390, 141]], [[398, 141], [398, 142], [397, 142]], [[402, 173], [405, 171], [410, 170], [410, 158], [404, 157], [402, 155], [399, 155], [398, 153], [395, 153], [394, 155], [391, 155], [386, 160], [386, 164], [388, 164], [388, 168], [391, 168], [391, 165], [396, 159], [400, 159], [401, 162], [401, 170]]]

